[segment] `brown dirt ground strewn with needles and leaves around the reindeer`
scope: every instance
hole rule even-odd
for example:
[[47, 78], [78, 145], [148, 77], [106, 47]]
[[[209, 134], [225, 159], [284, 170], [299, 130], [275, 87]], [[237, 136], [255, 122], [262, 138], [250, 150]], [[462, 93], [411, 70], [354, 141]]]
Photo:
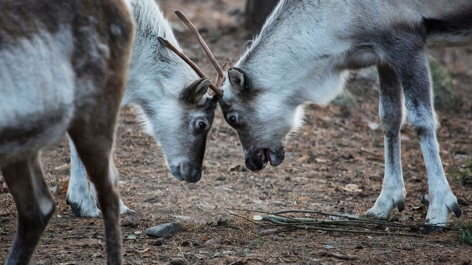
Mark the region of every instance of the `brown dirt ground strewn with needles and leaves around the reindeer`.
[[[214, 70], [198, 42], [174, 16], [175, 9], [184, 11], [194, 21], [221, 62], [228, 56], [238, 58], [245, 41], [251, 38], [239, 26], [243, 1], [161, 0], [160, 4], [185, 50], [207, 73], [214, 75]], [[440, 52], [455, 55], [454, 65], [449, 67], [463, 99], [459, 113], [439, 113], [441, 157], [448, 176], [452, 176], [454, 163], [461, 167], [472, 157], [472, 78], [467, 68], [470, 64], [464, 63], [472, 56], [465, 49]], [[121, 219], [125, 263], [169, 264], [172, 258], [186, 257], [190, 264], [236, 265], [245, 262], [234, 263], [241, 258], [246, 258], [248, 264], [472, 264], [472, 247], [459, 243], [454, 232], [420, 238], [303, 230], [260, 236], [261, 227], [225, 210], [274, 211], [306, 206], [365, 213], [379, 195], [384, 170], [383, 134], [368, 126], [379, 123], [379, 87], [354, 75], [347, 88], [359, 109], [310, 106], [302, 132], [287, 145], [285, 162], [261, 172], [230, 172], [231, 168], [244, 165], [243, 152], [236, 132], [224, 122], [218, 109], [209, 134], [204, 175], [193, 184], [178, 182], [169, 173], [159, 147], [141, 132], [133, 111], [123, 108], [115, 161], [121, 173], [122, 199], [137, 213], [137, 218], [128, 215]], [[402, 135], [407, 198], [405, 211], [394, 212], [393, 219], [414, 221], [421, 219], [421, 212], [412, 208], [421, 204], [421, 195], [427, 191], [426, 170], [412, 128], [406, 125]], [[102, 221], [78, 218], [66, 204], [68, 142], [45, 151], [43, 165], [54, 191], [57, 212], [42, 236], [32, 264], [104, 264]], [[345, 189], [347, 184], [358, 185], [357, 191]], [[450, 181], [450, 185], [464, 211], [463, 217], [451, 221], [472, 221], [472, 187], [455, 181]], [[15, 232], [16, 208], [8, 193], [0, 194], [0, 201], [2, 261]], [[126, 240], [135, 231], [144, 232], [150, 226], [176, 220], [180, 220], [182, 230], [166, 240], [163, 247], [152, 246], [155, 239], [144, 233]], [[325, 249], [323, 245], [333, 248]], [[325, 251], [359, 259], [321, 257]], [[190, 259], [185, 254], [188, 252], [202, 255], [202, 259]]]

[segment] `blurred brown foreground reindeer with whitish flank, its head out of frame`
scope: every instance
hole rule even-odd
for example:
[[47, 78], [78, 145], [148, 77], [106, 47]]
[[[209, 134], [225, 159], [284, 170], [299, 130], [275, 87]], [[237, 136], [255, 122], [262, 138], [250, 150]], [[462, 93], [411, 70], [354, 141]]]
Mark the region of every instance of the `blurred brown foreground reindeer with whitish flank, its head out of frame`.
[[111, 159], [134, 21], [121, 0], [0, 0], [0, 169], [17, 205], [6, 264], [28, 264], [55, 209], [41, 150], [66, 131], [97, 189], [108, 263], [121, 264]]

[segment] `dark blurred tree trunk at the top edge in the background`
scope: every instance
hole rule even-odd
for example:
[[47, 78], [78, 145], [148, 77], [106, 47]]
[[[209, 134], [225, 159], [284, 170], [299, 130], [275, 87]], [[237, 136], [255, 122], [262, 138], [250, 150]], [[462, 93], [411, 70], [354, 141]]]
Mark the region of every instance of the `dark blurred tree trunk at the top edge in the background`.
[[266, 18], [277, 6], [278, 0], [247, 0], [246, 27], [253, 34], [259, 33]]

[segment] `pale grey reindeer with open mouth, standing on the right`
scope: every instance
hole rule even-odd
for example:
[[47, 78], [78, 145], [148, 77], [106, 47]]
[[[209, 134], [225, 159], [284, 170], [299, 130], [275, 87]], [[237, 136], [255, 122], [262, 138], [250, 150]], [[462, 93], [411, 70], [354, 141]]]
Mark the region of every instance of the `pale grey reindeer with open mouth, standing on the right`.
[[[327, 104], [352, 70], [377, 66], [385, 134], [385, 177], [367, 214], [386, 220], [405, 208], [400, 159], [404, 105], [420, 141], [430, 207], [423, 232], [440, 232], [461, 210], [444, 174], [436, 138], [428, 47], [472, 43], [470, 0], [281, 0], [261, 33], [230, 68], [219, 100], [249, 170], [284, 160], [303, 107]], [[405, 104], [406, 103], [406, 104]]]

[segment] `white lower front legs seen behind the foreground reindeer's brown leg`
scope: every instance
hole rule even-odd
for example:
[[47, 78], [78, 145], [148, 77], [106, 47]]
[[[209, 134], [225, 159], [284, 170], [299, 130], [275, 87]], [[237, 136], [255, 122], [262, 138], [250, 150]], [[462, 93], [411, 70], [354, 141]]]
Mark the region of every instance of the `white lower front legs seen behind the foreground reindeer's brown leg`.
[[[80, 160], [74, 142], [70, 144], [70, 180], [67, 188], [67, 204], [76, 216], [87, 218], [100, 218], [101, 211], [97, 206], [97, 191], [93, 184], [90, 185], [85, 173], [85, 167]], [[119, 200], [120, 214], [134, 212]]]

